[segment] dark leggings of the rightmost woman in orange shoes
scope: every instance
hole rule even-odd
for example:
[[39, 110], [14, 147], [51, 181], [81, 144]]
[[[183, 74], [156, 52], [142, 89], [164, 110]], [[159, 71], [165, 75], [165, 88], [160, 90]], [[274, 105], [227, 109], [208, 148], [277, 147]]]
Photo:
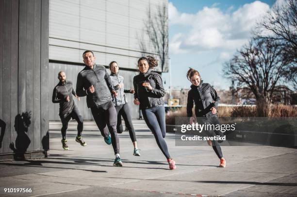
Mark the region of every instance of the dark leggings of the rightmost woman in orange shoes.
[[[204, 119], [204, 118], [203, 118]], [[202, 120], [203, 121], [203, 120]], [[207, 118], [207, 119], [204, 119], [203, 121], [204, 123], [207, 124], [214, 124], [214, 125], [217, 125], [217, 124], [220, 124], [217, 117], [213, 116], [213, 117], [210, 117], [210, 118]], [[224, 135], [222, 132], [218, 131], [219, 133], [216, 133], [215, 131], [213, 130], [205, 130], [206, 132], [206, 135], [208, 137], [214, 137], [215, 135], [219, 134], [219, 135]], [[218, 143], [217, 140], [212, 140], [212, 146], [213, 146], [213, 149], [214, 149], [214, 152], [215, 154], [217, 155], [217, 157], [219, 159], [221, 159], [223, 157], [223, 153], [222, 153], [222, 149]]]

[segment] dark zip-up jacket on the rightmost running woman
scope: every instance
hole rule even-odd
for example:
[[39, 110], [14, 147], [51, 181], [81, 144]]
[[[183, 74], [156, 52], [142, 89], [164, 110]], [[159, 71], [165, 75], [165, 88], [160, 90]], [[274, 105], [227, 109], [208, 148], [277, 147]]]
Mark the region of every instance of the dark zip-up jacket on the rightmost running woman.
[[[217, 110], [217, 105], [220, 98], [216, 91], [209, 83], [200, 82], [198, 86], [191, 85], [188, 92], [187, 101], [187, 117], [192, 117], [192, 108], [195, 102], [195, 115], [197, 117], [211, 117], [217, 114], [212, 114], [210, 109], [214, 107]], [[194, 101], [194, 102], [193, 102]]]

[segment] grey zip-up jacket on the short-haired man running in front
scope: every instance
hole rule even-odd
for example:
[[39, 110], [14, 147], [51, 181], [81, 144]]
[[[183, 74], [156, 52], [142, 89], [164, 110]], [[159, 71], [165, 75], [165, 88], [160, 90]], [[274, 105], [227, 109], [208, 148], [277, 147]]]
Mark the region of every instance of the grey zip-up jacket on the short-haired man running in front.
[[[95, 92], [90, 93], [93, 85]], [[85, 66], [77, 75], [76, 93], [79, 97], [87, 97], [87, 106], [96, 107], [112, 100], [111, 91], [115, 90], [112, 80], [104, 66], [94, 65], [93, 69]]]

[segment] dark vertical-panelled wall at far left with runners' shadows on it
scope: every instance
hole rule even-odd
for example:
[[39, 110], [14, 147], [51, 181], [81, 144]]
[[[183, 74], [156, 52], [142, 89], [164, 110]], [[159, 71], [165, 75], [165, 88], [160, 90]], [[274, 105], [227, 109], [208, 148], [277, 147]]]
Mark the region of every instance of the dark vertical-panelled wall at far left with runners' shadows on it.
[[0, 153], [43, 149], [49, 127], [48, 15], [48, 0], [0, 1], [0, 119], [6, 125]]

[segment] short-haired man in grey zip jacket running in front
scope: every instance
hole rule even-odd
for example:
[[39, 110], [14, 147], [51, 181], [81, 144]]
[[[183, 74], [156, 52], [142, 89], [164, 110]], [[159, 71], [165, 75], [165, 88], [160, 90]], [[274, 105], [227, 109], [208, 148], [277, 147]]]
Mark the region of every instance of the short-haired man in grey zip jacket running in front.
[[[82, 54], [86, 65], [77, 76], [76, 92], [87, 97], [87, 106], [91, 108], [94, 120], [104, 137], [106, 144], [113, 145], [115, 151], [114, 166], [122, 166], [119, 156], [119, 139], [116, 132], [117, 115], [111, 94], [116, 97], [115, 88], [104, 66], [95, 64], [96, 57], [90, 50]], [[105, 126], [108, 130], [104, 130]]]

